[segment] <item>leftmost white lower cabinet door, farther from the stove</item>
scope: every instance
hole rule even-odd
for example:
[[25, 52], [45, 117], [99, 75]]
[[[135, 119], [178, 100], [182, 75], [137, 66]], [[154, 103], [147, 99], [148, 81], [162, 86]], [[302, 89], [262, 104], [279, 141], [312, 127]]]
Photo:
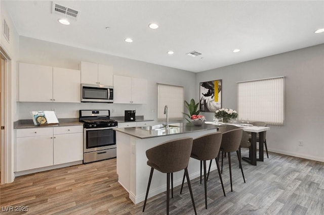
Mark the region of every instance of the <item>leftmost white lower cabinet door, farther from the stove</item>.
[[53, 135], [17, 138], [17, 172], [48, 166], [53, 166]]

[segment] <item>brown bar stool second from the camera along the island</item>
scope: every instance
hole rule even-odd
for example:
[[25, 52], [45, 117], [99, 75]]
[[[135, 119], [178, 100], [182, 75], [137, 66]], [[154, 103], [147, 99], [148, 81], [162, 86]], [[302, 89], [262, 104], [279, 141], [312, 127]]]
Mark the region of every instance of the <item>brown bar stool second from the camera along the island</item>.
[[[217, 159], [217, 156], [219, 154], [219, 149], [221, 146], [221, 142], [222, 142], [222, 133], [214, 132], [214, 133], [200, 136], [200, 137], [194, 139], [193, 143], [192, 143], [192, 150], [191, 150], [190, 157], [200, 160], [200, 164], [201, 164], [201, 162], [204, 162], [204, 185], [205, 185], [205, 207], [206, 207], [206, 209], [207, 209], [206, 160], [215, 159], [219, 179], [221, 181], [222, 188], [223, 188], [223, 193], [224, 193], [224, 196], [226, 196], [225, 190], [224, 190], [224, 185], [223, 185], [223, 180], [222, 180], [222, 175], [219, 170], [219, 164], [218, 164], [218, 159]], [[201, 171], [201, 169], [200, 169], [200, 171]], [[200, 176], [201, 176], [201, 173], [200, 173]], [[185, 175], [183, 175], [180, 193], [182, 193], [184, 178], [185, 178]]]

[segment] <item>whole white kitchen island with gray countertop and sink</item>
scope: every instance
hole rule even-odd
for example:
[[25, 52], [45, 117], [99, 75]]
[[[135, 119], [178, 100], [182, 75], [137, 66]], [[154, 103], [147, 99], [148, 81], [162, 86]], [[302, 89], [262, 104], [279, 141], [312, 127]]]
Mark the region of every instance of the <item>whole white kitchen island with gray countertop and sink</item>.
[[[182, 137], [196, 138], [217, 131], [217, 126], [204, 124], [193, 126], [190, 123], [171, 124], [170, 128], [147, 126], [116, 128], [118, 182], [128, 192], [130, 199], [139, 203], [145, 199], [150, 167], [147, 166], [145, 151], [160, 143]], [[216, 169], [216, 163], [212, 170]], [[190, 158], [188, 165], [190, 180], [200, 176], [200, 163]], [[173, 174], [174, 187], [182, 183], [183, 171]], [[154, 171], [148, 197], [167, 190], [167, 175]], [[186, 191], [185, 191], [186, 192]], [[188, 191], [189, 192], [189, 191]]]

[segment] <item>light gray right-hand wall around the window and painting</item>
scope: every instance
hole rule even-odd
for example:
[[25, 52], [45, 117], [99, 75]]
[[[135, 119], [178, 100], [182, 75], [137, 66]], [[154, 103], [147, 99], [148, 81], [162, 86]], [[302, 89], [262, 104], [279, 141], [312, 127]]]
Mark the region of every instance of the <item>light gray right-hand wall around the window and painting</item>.
[[236, 82], [277, 76], [286, 77], [285, 125], [270, 126], [268, 150], [324, 162], [324, 44], [197, 73], [195, 95], [200, 82], [222, 79], [222, 106], [236, 110]]

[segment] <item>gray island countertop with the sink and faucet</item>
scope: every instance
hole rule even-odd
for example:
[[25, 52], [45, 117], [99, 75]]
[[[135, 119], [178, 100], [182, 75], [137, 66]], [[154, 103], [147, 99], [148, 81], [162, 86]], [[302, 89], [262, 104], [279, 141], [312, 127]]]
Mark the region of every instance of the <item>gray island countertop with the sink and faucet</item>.
[[194, 126], [191, 123], [176, 123], [170, 125], [175, 125], [178, 127], [169, 128], [169, 129], [159, 129], [159, 130], [145, 130], [142, 129], [141, 127], [132, 127], [132, 128], [115, 128], [114, 130], [140, 139], [146, 139], [146, 138], [154, 138], [154, 137], [161, 137], [161, 136], [168, 136], [168, 135], [175, 135], [175, 134], [183, 134], [189, 132], [206, 131], [212, 129], [215, 129], [215, 131], [217, 131], [216, 129], [218, 127], [216, 125], [211, 125], [211, 124]]

